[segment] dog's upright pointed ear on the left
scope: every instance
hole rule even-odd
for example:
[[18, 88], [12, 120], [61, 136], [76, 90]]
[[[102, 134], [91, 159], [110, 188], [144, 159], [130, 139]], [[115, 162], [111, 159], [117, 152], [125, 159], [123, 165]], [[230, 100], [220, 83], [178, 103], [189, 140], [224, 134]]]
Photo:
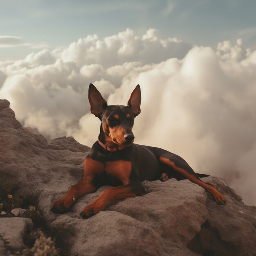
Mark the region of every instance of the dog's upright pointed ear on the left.
[[92, 114], [101, 119], [100, 115], [102, 114], [103, 110], [108, 106], [108, 103], [105, 99], [103, 99], [101, 93], [92, 83], [90, 83], [89, 85], [88, 98], [91, 105]]

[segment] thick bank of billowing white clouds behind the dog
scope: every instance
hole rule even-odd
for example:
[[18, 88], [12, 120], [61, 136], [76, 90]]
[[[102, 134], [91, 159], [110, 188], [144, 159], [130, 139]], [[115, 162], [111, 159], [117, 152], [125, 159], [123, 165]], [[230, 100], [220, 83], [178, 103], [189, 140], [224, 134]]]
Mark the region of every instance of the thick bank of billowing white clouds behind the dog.
[[109, 104], [126, 104], [141, 85], [135, 141], [186, 159], [199, 173], [224, 177], [247, 204], [256, 204], [256, 51], [242, 40], [193, 47], [130, 29], [100, 40], [0, 63], [0, 98], [23, 125], [43, 135], [74, 136], [91, 146], [99, 120], [90, 114], [88, 85]]

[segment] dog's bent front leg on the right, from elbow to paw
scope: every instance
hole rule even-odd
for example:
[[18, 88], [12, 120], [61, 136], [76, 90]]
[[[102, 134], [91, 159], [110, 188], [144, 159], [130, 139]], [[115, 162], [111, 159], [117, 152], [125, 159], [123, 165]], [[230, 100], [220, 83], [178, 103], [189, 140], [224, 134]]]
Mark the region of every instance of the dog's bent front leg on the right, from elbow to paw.
[[130, 198], [137, 195], [145, 195], [144, 186], [137, 180], [124, 186], [106, 189], [97, 199], [88, 204], [80, 215], [83, 218], [89, 218], [103, 211], [111, 200]]

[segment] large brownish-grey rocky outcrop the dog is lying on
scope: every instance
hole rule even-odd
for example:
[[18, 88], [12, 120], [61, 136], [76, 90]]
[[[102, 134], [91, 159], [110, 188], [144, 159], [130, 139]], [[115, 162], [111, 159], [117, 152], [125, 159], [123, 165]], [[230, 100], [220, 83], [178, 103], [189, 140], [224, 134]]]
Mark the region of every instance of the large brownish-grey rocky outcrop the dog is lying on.
[[[219, 177], [203, 180], [225, 194], [225, 206], [217, 205], [189, 180], [171, 179], [145, 181], [146, 195], [111, 202], [86, 220], [79, 213], [107, 186], [82, 196], [68, 213], [52, 213], [52, 202], [81, 179], [88, 150], [72, 137], [47, 141], [36, 130], [22, 128], [9, 102], [0, 100], [0, 172], [12, 177], [20, 197], [37, 204], [63, 252], [74, 256], [254, 255], [256, 207], [243, 204]], [[8, 219], [24, 221], [0, 220]]]

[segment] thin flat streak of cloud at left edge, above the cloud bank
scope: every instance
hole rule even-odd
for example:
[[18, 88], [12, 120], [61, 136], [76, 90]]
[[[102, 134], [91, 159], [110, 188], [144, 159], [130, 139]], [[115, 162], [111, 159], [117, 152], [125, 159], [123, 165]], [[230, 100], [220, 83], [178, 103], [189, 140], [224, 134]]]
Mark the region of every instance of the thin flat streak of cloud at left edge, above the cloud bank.
[[9, 48], [9, 47], [18, 47], [18, 46], [26, 46], [31, 49], [40, 49], [46, 48], [48, 45], [46, 43], [28, 43], [22, 40], [20, 36], [0, 36], [0, 48]]

